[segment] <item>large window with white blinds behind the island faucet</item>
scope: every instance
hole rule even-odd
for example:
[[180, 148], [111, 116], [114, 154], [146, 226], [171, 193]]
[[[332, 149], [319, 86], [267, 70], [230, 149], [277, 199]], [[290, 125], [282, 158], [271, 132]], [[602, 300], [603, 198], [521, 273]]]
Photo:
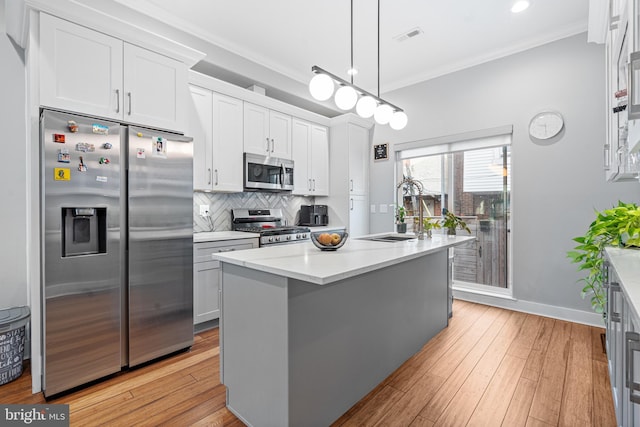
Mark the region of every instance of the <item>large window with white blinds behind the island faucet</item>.
[[[450, 137], [449, 141], [438, 139], [396, 146], [398, 178], [411, 177], [422, 183], [425, 215], [438, 218], [446, 208], [462, 217], [476, 237], [475, 241], [453, 250], [456, 285], [509, 287], [511, 132], [508, 129], [508, 133], [500, 128], [493, 135], [480, 133], [460, 136], [459, 140]], [[399, 202], [410, 216], [417, 217], [417, 194], [408, 187], [402, 190]]]

